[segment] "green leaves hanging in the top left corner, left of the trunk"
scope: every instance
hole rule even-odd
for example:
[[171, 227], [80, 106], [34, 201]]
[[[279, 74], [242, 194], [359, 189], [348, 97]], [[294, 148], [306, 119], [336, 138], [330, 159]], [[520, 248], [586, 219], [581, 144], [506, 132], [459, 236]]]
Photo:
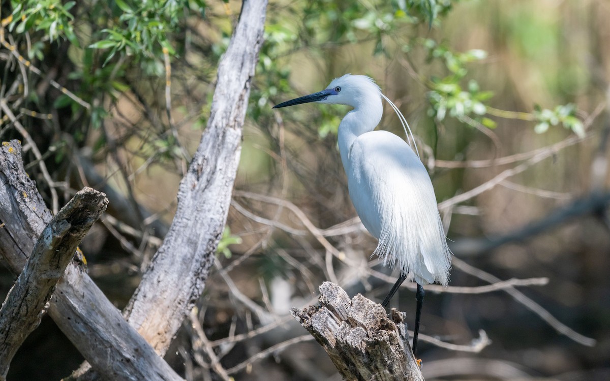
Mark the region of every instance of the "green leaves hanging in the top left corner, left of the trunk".
[[[133, 66], [127, 58], [140, 63], [145, 75], [153, 79], [162, 77], [163, 54], [178, 54], [176, 37], [181, 35], [181, 27], [190, 16], [204, 16], [205, 6], [200, 0], [81, 4], [74, 1], [62, 4], [59, 0], [12, 1], [9, 30], [16, 37], [28, 34], [34, 40], [28, 45], [28, 56], [40, 61], [45, 60], [46, 38], [48, 43], [56, 43], [58, 38], [70, 42], [74, 67], [68, 77], [80, 84], [74, 92], [94, 104], [88, 121], [99, 127], [110, 115], [106, 107], [100, 106], [104, 99], [115, 101], [131, 90], [126, 77], [132, 74], [127, 68]], [[75, 15], [79, 23], [75, 23]], [[178, 48], [184, 51], [183, 44]], [[82, 112], [79, 110], [82, 106], [65, 94], [53, 104], [57, 109], [69, 105], [73, 115]]]

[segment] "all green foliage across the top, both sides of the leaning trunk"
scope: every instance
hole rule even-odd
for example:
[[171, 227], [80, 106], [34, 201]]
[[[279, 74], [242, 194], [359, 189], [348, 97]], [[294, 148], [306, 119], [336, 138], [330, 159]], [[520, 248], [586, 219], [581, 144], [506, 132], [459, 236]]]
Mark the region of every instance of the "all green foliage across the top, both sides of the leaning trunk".
[[[190, 43], [185, 34], [192, 29], [189, 23], [196, 19], [206, 20], [206, 10], [210, 9], [210, 4], [202, 0], [115, 0], [82, 4], [13, 0], [11, 4], [13, 20], [9, 30], [17, 37], [30, 34], [33, 41], [27, 51], [30, 59], [45, 59], [45, 36], [47, 43], [58, 43], [62, 38], [70, 43], [74, 62], [68, 77], [77, 85], [74, 93], [92, 107], [90, 112], [85, 112], [65, 94], [54, 100], [53, 107], [70, 107], [75, 121], [87, 115], [87, 123], [73, 132], [77, 141], [87, 137], [88, 126], [99, 128], [111, 115], [105, 101], [116, 102], [124, 93], [133, 90], [146, 91], [142, 84], [134, 87], [132, 83], [134, 64], [141, 70], [136, 74], [138, 81], [144, 75], [151, 86], [162, 84], [165, 75], [163, 55], [184, 55], [185, 47]], [[212, 9], [217, 5], [213, 4]], [[432, 26], [440, 26], [453, 5], [449, 0], [379, 3], [315, 0], [276, 5], [268, 14], [265, 42], [249, 102], [249, 118], [258, 124], [270, 124], [274, 119], [270, 105], [286, 98], [286, 94], [293, 95], [289, 82], [292, 72], [290, 66], [285, 65], [293, 55], [304, 49], [319, 55], [332, 55], [337, 46], [365, 44], [372, 46], [374, 57], [403, 56], [407, 60], [418, 59], [417, 51], [423, 49], [426, 58], [422, 63], [430, 67], [429, 73], [422, 77], [429, 88], [428, 116], [438, 122], [449, 117], [468, 125], [478, 123], [495, 128], [497, 122], [487, 115], [492, 92], [481, 89], [475, 79], [468, 77], [468, 66], [484, 60], [486, 52], [481, 49], [456, 52], [447, 41], [419, 37]], [[226, 4], [224, 7], [226, 12]], [[75, 15], [79, 18], [78, 24], [74, 22]], [[213, 68], [229, 43], [230, 31], [214, 12], [211, 15], [212, 20], [207, 23], [217, 27], [220, 36], [207, 41], [207, 49], [212, 54], [201, 59], [208, 61], [204, 65]], [[442, 62], [446, 71], [439, 70], [435, 62]], [[32, 101], [37, 102], [35, 98]], [[206, 122], [208, 105], [209, 102], [203, 105], [199, 123]], [[289, 118], [297, 112], [290, 110]], [[322, 108], [316, 111], [316, 120], [309, 124], [318, 126], [318, 136], [325, 138], [336, 134], [339, 115], [337, 109]], [[558, 106], [553, 111], [536, 110], [531, 119], [537, 121], [537, 133], [561, 123], [577, 134], [583, 134], [582, 123], [569, 106]], [[163, 142], [160, 149], [165, 158], [179, 158], [181, 149], [170, 147], [178, 142], [169, 138], [166, 132], [158, 131], [159, 136], [153, 139], [156, 143], [152, 144], [158, 146]], [[102, 146], [99, 144], [98, 148]], [[161, 160], [163, 155], [158, 158]]]

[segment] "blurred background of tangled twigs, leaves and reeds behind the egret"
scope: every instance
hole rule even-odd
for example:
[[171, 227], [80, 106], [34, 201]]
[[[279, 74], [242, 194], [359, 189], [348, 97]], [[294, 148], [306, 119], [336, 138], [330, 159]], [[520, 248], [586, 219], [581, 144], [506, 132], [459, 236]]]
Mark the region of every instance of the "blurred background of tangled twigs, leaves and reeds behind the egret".
[[[119, 308], [171, 223], [240, 4], [2, 1], [13, 117], [3, 108], [0, 138], [25, 142], [50, 207], [83, 185], [109, 194], [82, 249]], [[422, 332], [461, 347], [421, 344], [426, 379], [610, 379], [608, 15], [606, 0], [271, 1], [216, 270], [166, 359], [193, 380], [221, 379], [210, 350], [235, 380], [337, 379], [289, 308], [315, 302], [324, 280], [380, 300], [394, 279], [347, 195], [347, 109], [271, 107], [353, 73], [411, 124], [455, 254], [451, 286], [548, 278], [519, 293], [429, 287]], [[403, 136], [390, 107], [380, 128]], [[4, 296], [14, 276], [1, 274]], [[410, 319], [414, 305], [407, 290], [395, 301]], [[45, 318], [9, 379], [57, 379], [81, 361]]]

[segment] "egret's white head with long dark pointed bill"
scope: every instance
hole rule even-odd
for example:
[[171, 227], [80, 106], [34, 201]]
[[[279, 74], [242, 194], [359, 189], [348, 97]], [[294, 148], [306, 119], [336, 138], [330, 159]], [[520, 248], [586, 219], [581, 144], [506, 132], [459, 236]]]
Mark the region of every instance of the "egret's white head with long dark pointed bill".
[[371, 77], [345, 74], [345, 76], [333, 79], [325, 90], [282, 102], [273, 108], [279, 109], [279, 107], [308, 102], [345, 104], [356, 108], [359, 105], [371, 102], [372, 99], [381, 103], [381, 90]]

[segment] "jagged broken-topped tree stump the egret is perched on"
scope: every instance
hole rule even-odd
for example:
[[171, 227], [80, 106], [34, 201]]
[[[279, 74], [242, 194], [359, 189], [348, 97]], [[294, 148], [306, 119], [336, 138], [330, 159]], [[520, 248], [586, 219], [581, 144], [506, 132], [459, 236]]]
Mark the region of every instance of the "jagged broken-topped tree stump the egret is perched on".
[[422, 381], [409, 346], [404, 313], [357, 294], [350, 297], [331, 282], [320, 286], [320, 305], [290, 313], [328, 353], [346, 380]]

